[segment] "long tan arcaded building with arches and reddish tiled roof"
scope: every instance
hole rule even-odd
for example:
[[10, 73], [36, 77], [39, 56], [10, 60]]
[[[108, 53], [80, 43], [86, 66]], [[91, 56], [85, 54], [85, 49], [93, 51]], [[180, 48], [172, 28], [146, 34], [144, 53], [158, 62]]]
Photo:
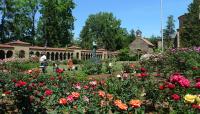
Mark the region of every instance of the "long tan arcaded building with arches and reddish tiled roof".
[[[42, 53], [46, 53], [47, 59], [54, 60], [67, 60], [79, 59], [87, 60], [92, 57], [91, 50], [84, 50], [77, 46], [71, 46], [68, 48], [51, 48], [51, 47], [39, 47], [31, 46], [30, 43], [22, 41], [8, 42], [5, 44], [0, 44], [0, 59], [5, 58], [29, 58], [32, 55], [40, 57]], [[113, 56], [116, 56], [118, 53], [110, 52], [105, 49], [98, 49], [97, 57], [100, 59], [106, 59]]]

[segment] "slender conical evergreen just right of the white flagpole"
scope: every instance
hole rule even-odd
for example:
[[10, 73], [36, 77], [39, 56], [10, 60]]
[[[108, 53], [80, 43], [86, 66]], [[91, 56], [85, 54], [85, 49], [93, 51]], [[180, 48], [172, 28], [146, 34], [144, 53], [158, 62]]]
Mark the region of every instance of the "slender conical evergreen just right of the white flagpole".
[[164, 39], [165, 39], [165, 46], [167, 48], [171, 48], [173, 46], [172, 36], [175, 34], [175, 25], [174, 25], [174, 18], [172, 15], [168, 17], [167, 26], [164, 29]]

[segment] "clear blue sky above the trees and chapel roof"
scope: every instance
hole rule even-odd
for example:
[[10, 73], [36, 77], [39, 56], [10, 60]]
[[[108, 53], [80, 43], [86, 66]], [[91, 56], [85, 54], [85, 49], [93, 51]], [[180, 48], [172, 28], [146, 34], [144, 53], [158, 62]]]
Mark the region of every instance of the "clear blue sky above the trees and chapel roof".
[[[122, 27], [140, 29], [143, 36], [160, 35], [160, 0], [74, 0], [76, 8], [73, 10], [75, 21], [75, 37], [85, 25], [90, 14], [98, 12], [112, 12], [122, 21]], [[178, 17], [187, 12], [192, 0], [163, 0], [163, 27], [166, 26], [167, 17], [173, 15], [176, 28]]]

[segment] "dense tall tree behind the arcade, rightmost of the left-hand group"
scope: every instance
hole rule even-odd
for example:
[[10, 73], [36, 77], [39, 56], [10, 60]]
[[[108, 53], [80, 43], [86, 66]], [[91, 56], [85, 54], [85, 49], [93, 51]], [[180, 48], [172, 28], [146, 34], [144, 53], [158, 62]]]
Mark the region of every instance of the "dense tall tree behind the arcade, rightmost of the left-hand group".
[[41, 31], [40, 39], [44, 38], [48, 46], [63, 47], [71, 43], [73, 38], [75, 8], [73, 0], [43, 0], [41, 1], [42, 14], [38, 27]]

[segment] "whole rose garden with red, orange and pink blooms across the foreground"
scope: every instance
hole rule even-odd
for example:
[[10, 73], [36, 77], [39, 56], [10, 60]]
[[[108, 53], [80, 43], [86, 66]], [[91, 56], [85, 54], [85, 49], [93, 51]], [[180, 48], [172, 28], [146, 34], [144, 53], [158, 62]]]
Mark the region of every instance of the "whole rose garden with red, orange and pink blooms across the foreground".
[[[108, 61], [113, 64], [111, 74]], [[42, 73], [37, 57], [4, 59], [2, 113], [196, 114], [200, 110], [199, 61], [200, 48], [180, 48], [137, 62], [112, 58], [95, 65], [85, 61], [78, 70]], [[91, 76], [94, 69], [102, 76]]]

